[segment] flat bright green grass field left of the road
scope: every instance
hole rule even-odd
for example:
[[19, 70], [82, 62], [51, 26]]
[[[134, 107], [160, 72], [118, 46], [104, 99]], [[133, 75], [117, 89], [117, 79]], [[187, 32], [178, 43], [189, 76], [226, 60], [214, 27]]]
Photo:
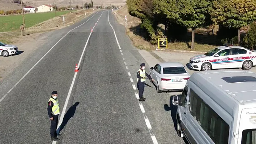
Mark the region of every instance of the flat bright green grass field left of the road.
[[[75, 10], [72, 10], [72, 11], [75, 11]], [[60, 16], [69, 12], [70, 10], [59, 11], [59, 12], [56, 12], [56, 15]], [[30, 14], [25, 14], [24, 17], [25, 17], [26, 28], [28, 28], [37, 23], [46, 21], [50, 18], [54, 18], [55, 12], [30, 13]], [[22, 14], [15, 15], [15, 16], [1, 16], [0, 32], [20, 30], [21, 23], [23, 23]]]

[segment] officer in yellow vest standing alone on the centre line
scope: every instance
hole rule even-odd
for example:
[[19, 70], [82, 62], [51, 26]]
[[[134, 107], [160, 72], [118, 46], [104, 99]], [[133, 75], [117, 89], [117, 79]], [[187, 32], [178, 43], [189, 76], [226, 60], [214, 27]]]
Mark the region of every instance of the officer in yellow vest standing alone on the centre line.
[[57, 134], [57, 125], [58, 125], [58, 117], [60, 114], [59, 102], [57, 100], [57, 91], [52, 92], [52, 96], [48, 100], [47, 107], [48, 115], [51, 120], [51, 140], [58, 141], [60, 140], [57, 136], [61, 134]]

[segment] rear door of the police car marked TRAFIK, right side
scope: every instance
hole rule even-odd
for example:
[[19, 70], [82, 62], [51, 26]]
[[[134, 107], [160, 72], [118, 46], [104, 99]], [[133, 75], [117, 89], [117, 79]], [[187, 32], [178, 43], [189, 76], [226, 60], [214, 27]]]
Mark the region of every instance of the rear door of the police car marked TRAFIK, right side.
[[231, 53], [230, 67], [231, 68], [242, 67], [247, 51], [242, 48], [232, 48], [231, 52], [232, 53]]

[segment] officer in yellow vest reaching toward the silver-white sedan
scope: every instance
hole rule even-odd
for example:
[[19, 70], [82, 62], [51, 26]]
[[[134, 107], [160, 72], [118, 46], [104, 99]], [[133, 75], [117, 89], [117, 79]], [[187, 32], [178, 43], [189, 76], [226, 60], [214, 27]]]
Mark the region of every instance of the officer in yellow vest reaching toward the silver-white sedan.
[[145, 81], [146, 81], [146, 76], [151, 79], [152, 81], [155, 81], [148, 75], [145, 71], [145, 63], [140, 64], [140, 69], [137, 72], [137, 87], [139, 91], [139, 101], [145, 101], [145, 98], [142, 96], [144, 92], [144, 87], [145, 87]]

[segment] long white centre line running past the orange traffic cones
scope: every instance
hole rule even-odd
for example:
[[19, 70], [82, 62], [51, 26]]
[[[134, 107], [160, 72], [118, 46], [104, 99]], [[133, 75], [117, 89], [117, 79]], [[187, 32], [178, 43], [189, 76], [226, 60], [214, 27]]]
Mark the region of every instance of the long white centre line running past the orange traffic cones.
[[[102, 12], [102, 14], [103, 14], [103, 13], [104, 13], [104, 12]], [[102, 14], [101, 14], [101, 16], [102, 16]], [[99, 16], [98, 21], [99, 21], [99, 19], [101, 18], [101, 16]], [[97, 22], [98, 22], [98, 21], [97, 21]], [[95, 27], [95, 26], [96, 26], [96, 25], [94, 25], [94, 27]], [[94, 29], [94, 27], [93, 27], [93, 29]], [[91, 31], [91, 33], [92, 33], [92, 31]], [[83, 52], [82, 52], [82, 54], [81, 54], [81, 57], [80, 57], [80, 60], [79, 60], [79, 62], [78, 62], [77, 67], [79, 67], [79, 65], [80, 65], [80, 63], [81, 63], [81, 61], [82, 61], [82, 57], [84, 56], [84, 52], [85, 52], [86, 46], [87, 46], [87, 44], [88, 44], [88, 42], [89, 42], [89, 39], [90, 39], [90, 37], [91, 37], [91, 33], [90, 33], [90, 35], [88, 36], [88, 39], [87, 39], [87, 41], [86, 41], [84, 50], [83, 50]], [[75, 79], [76, 79], [76, 75], [77, 75], [77, 72], [75, 72], [75, 74], [74, 74], [74, 77], [73, 77], [71, 86], [70, 86], [69, 91], [68, 91], [67, 99], [66, 99], [66, 101], [65, 101], [65, 104], [64, 104], [62, 113], [61, 113], [61, 115], [60, 115], [60, 120], [59, 120], [58, 126], [57, 126], [57, 133], [59, 133], [59, 131], [60, 131], [60, 125], [61, 125], [61, 123], [63, 122], [63, 118], [64, 118], [64, 115], [65, 115], [65, 112], [66, 112], [66, 109], [67, 109], [69, 97], [70, 97], [70, 95], [71, 95], [71, 92], [72, 92], [72, 89], [73, 89], [73, 86], [74, 86], [74, 82], [75, 82]], [[56, 144], [56, 141], [52, 141], [52, 144]]]

